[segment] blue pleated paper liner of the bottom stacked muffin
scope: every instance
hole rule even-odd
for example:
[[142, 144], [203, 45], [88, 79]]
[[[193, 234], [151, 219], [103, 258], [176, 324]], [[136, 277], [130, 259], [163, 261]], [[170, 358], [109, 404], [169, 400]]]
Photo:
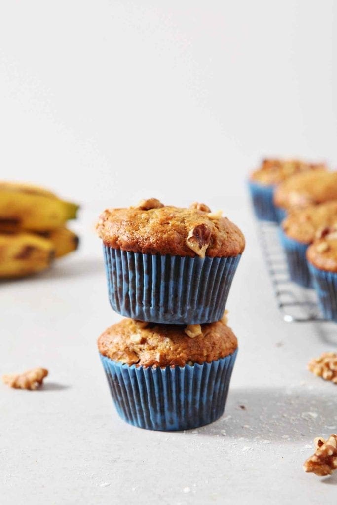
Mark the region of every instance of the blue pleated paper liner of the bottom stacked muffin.
[[222, 416], [237, 349], [203, 365], [136, 367], [100, 358], [120, 417], [148, 430], [187, 430]]

